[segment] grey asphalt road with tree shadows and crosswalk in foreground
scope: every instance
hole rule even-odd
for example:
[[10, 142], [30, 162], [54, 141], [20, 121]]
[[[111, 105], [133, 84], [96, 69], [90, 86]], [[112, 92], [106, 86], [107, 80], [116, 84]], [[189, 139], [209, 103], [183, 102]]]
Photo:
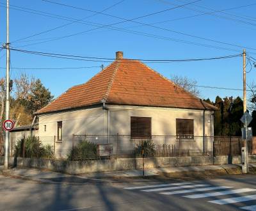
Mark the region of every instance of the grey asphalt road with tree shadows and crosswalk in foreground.
[[38, 183], [0, 176], [0, 210], [256, 210], [255, 175], [196, 181], [74, 180], [76, 184], [56, 184], [56, 178]]

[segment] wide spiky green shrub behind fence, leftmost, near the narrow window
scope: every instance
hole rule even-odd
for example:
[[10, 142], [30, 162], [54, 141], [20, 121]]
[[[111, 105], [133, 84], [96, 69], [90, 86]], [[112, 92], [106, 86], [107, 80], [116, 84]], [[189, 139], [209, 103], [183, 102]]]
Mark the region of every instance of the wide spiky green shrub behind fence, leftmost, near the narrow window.
[[39, 137], [28, 136], [22, 137], [17, 141], [14, 147], [14, 156], [23, 157], [23, 148], [24, 156], [28, 158], [54, 158], [54, 152], [50, 145], [42, 145]]

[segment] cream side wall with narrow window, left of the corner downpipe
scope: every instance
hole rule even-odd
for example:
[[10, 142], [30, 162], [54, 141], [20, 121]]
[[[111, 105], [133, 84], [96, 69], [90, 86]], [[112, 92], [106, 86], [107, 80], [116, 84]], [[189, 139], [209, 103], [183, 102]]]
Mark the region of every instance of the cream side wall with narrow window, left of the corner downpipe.
[[[64, 113], [39, 115], [39, 136], [55, 148], [57, 157], [65, 157], [72, 147], [73, 134], [107, 135], [107, 120], [102, 107]], [[62, 121], [62, 141], [57, 140], [57, 122]], [[46, 125], [46, 131], [44, 131]], [[54, 146], [54, 139], [55, 146]]]

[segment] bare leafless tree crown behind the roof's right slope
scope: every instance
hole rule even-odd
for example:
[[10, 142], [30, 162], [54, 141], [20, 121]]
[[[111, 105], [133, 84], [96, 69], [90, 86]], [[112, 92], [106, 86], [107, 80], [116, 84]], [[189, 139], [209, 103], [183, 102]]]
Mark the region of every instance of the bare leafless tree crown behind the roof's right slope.
[[200, 96], [200, 91], [196, 88], [197, 81], [189, 79], [186, 76], [182, 77], [177, 75], [173, 75], [171, 80], [184, 90], [189, 91], [192, 95], [196, 97]]

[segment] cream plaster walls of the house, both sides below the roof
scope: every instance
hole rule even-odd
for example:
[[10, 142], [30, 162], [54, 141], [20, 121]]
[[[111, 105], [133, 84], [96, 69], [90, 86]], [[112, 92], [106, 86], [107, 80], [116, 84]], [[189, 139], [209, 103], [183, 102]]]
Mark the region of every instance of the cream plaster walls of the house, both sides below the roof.
[[[190, 119], [194, 120], [195, 137], [193, 140], [182, 140], [181, 147], [188, 150], [193, 147], [198, 152], [203, 152], [203, 150], [204, 152], [211, 152], [212, 138], [208, 137], [207, 142], [205, 142], [207, 145], [205, 145], [204, 136], [213, 136], [214, 134], [214, 111], [128, 105], [106, 105], [106, 107], [108, 110], [99, 105], [99, 107], [88, 109], [39, 114], [38, 136], [42, 143], [54, 147], [57, 157], [64, 158], [70, 151], [73, 144], [73, 134], [97, 135], [90, 141], [113, 143], [114, 148], [121, 148], [125, 152], [125, 150], [132, 150], [134, 147], [134, 140], [129, 137], [131, 134], [131, 116], [150, 117], [154, 143], [159, 146], [166, 144], [175, 147], [180, 146], [179, 140], [175, 137], [176, 119]], [[62, 125], [61, 139], [58, 140], [58, 122], [60, 121]], [[118, 143], [116, 143], [116, 137], [111, 137], [111, 135], [116, 134], [119, 134]]]

